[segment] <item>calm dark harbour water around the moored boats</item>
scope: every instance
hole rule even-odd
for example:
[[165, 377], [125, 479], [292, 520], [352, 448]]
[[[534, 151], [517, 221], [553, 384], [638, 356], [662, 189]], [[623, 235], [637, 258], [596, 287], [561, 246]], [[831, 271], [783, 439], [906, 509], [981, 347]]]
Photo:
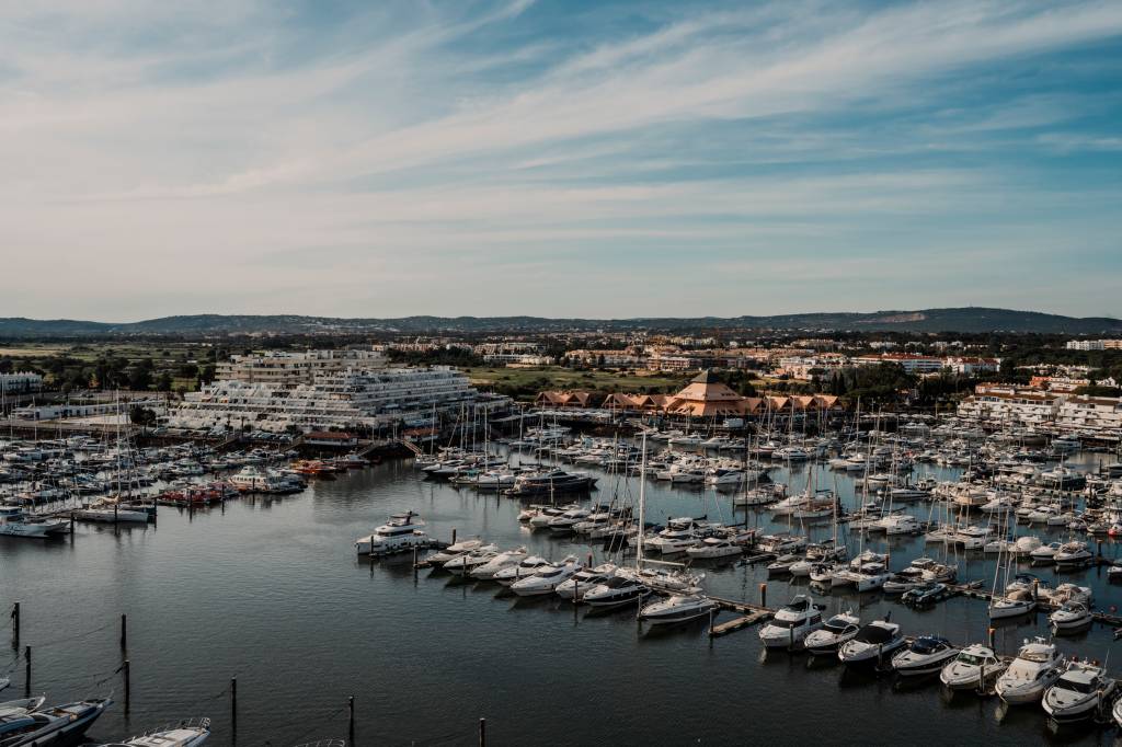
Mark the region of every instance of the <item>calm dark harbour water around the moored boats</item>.
[[[755, 629], [712, 642], [705, 624], [645, 631], [633, 611], [574, 616], [560, 601], [496, 597], [490, 584], [427, 571], [414, 580], [410, 557], [357, 560], [355, 537], [405, 509], [420, 511], [438, 537], [448, 538], [454, 527], [461, 538], [480, 534], [554, 559], [588, 553], [587, 545], [519, 527], [516, 501], [419, 474], [411, 462], [393, 462], [315, 482], [296, 496], [231, 501], [224, 511], [192, 516], [162, 508], [158, 526], [116, 535], [82, 526], [73, 541], [47, 545], [0, 537], [0, 605], [7, 610], [22, 602], [20, 644], [34, 649], [33, 690], [52, 701], [116, 690], [117, 704], [91, 735], [107, 740], [190, 716], [211, 717], [215, 745], [346, 737], [351, 694], [358, 745], [475, 744], [480, 717], [498, 745], [791, 744], [825, 734], [865, 744], [900, 744], [904, 735], [918, 744], [1114, 740], [1111, 729], [1052, 735], [1039, 707], [1003, 713], [996, 698], [948, 699], [937, 682], [900, 690], [890, 677], [810, 667], [802, 655], [765, 657]], [[795, 488], [804, 476], [793, 477]], [[838, 482], [852, 504], [852, 480]], [[637, 486], [632, 480], [620, 489], [634, 494]], [[608, 500], [613, 491], [604, 477], [594, 495]], [[732, 517], [728, 498], [711, 491], [660, 483], [649, 499], [652, 520]], [[913, 508], [923, 519], [927, 510], [927, 504]], [[828, 527], [819, 534], [828, 535]], [[856, 534], [849, 542], [856, 551]], [[883, 548], [883, 537], [871, 546]], [[894, 568], [934, 552], [911, 537], [889, 547]], [[1116, 551], [1104, 545], [1104, 552]], [[992, 561], [958, 562], [960, 579], [984, 579], [988, 588]], [[755, 601], [765, 580], [762, 565], [729, 565], [709, 569], [706, 585]], [[1122, 605], [1122, 588], [1110, 588], [1105, 572], [1063, 580], [1091, 583], [1100, 608]], [[767, 581], [773, 606], [807, 591]], [[955, 599], [923, 612], [879, 594], [821, 600], [831, 611], [859, 609], [864, 619], [891, 609], [909, 634], [939, 633], [960, 643], [983, 640], [987, 627], [977, 600]], [[112, 674], [122, 660], [121, 612], [129, 615], [132, 672], [127, 717], [120, 675]], [[1047, 635], [1042, 615], [1002, 626], [999, 649], [1014, 653], [1034, 634]], [[0, 633], [0, 672], [13, 655], [7, 639]], [[1061, 643], [1068, 653], [1094, 658], [1105, 657], [1110, 646], [1110, 630], [1100, 627]], [[1120, 667], [1122, 661], [1115, 674]], [[237, 737], [226, 694], [233, 675]], [[12, 679], [3, 694], [16, 698], [22, 663]]]

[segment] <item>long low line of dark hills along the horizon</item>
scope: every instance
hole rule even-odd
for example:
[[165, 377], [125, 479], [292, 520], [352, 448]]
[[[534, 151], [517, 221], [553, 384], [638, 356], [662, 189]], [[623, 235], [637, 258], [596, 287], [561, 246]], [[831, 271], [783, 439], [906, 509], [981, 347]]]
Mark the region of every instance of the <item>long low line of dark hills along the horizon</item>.
[[113, 324], [76, 320], [0, 319], [0, 339], [125, 335], [306, 334], [323, 332], [550, 332], [563, 330], [802, 330], [807, 332], [1040, 332], [1119, 334], [1122, 321], [1075, 317], [1009, 308], [927, 308], [873, 313], [811, 313], [776, 316], [645, 317], [622, 320], [543, 319], [537, 316], [405, 316], [338, 319], [297, 315], [196, 314]]

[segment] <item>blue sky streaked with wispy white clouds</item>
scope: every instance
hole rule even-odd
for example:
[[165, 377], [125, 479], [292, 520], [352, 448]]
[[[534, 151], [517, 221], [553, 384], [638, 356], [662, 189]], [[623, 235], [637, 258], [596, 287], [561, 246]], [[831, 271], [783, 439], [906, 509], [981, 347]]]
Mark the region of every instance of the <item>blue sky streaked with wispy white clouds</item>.
[[0, 0], [0, 316], [1122, 317], [1122, 2]]

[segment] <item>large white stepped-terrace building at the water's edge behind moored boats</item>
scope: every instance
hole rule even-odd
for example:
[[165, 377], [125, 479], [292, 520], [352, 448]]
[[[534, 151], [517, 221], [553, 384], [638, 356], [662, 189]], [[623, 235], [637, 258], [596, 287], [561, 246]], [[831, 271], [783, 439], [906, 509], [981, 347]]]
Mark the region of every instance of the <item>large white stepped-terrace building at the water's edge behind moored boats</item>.
[[217, 380], [184, 396], [167, 424], [188, 428], [325, 431], [422, 421], [473, 406], [505, 409], [506, 397], [482, 395], [449, 367], [321, 371], [311, 384]]

